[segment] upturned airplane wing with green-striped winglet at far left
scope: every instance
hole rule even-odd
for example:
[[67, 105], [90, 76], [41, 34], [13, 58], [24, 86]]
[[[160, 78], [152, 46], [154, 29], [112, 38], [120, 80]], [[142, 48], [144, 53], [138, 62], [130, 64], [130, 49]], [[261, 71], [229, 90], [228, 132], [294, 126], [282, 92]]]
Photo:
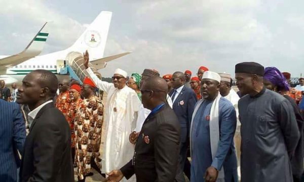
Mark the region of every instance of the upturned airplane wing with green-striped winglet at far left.
[[31, 59], [42, 52], [45, 42], [49, 36], [47, 23], [48, 22], [43, 25], [40, 31], [34, 36], [34, 38], [21, 53], [0, 59], [1, 71]]

